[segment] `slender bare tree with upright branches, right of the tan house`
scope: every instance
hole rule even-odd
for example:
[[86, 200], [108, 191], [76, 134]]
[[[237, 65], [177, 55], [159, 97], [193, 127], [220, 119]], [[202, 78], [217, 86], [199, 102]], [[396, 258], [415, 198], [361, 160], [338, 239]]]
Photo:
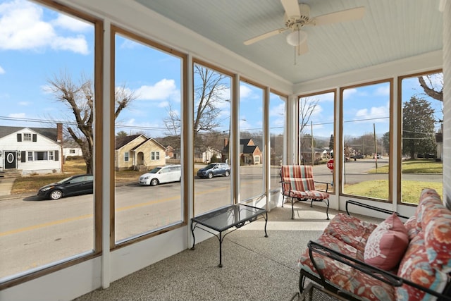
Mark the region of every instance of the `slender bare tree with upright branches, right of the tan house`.
[[[223, 99], [224, 92], [228, 87], [224, 85], [226, 75], [204, 66], [194, 65], [194, 141], [199, 132], [210, 132], [215, 130], [218, 123], [218, 115], [221, 113], [218, 102]], [[168, 116], [163, 119], [166, 129], [172, 135], [180, 133], [180, 114], [168, 109]]]

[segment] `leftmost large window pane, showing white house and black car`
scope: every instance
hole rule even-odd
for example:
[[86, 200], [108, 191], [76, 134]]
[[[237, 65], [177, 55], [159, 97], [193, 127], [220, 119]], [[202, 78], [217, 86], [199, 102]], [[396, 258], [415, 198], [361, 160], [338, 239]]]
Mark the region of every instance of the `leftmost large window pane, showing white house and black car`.
[[[41, 186], [93, 171], [94, 24], [29, 1], [0, 7], [0, 170], [12, 178], [0, 202], [6, 279], [94, 250], [92, 177], [37, 197]], [[69, 147], [80, 154], [66, 155]]]

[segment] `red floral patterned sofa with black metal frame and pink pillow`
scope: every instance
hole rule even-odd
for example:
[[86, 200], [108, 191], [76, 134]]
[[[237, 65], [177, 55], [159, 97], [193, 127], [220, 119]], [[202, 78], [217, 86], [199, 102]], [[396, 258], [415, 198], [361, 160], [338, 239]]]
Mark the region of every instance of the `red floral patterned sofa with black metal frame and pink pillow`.
[[[369, 223], [349, 205], [389, 216]], [[307, 277], [349, 300], [451, 300], [451, 211], [435, 190], [422, 190], [409, 219], [354, 201], [346, 211], [299, 257], [301, 292]]]

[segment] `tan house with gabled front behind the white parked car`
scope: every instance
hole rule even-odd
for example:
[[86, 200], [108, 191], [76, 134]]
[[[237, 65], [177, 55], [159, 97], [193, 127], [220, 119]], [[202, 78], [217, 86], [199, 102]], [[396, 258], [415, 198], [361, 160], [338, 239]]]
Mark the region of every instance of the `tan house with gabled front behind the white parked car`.
[[114, 167], [116, 171], [147, 171], [166, 164], [166, 148], [144, 135], [116, 137]]

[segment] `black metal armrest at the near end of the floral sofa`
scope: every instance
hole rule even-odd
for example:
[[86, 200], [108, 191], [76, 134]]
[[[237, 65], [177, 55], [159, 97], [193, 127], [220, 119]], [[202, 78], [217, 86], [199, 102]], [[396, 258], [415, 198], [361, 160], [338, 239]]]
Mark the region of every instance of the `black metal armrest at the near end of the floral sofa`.
[[[323, 274], [321, 273], [321, 269], [319, 269], [318, 264], [315, 261], [314, 253], [321, 254], [325, 257], [329, 257], [330, 259], [336, 260], [338, 262], [341, 262], [342, 264], [346, 264], [347, 266], [352, 267], [352, 269], [357, 269], [359, 271], [362, 271], [363, 273], [378, 279], [379, 281], [382, 281], [384, 283], [388, 283], [390, 285], [393, 285], [393, 287], [400, 287], [403, 284], [410, 285], [414, 288], [417, 288], [419, 290], [422, 290], [428, 294], [431, 294], [435, 297], [438, 297], [438, 300], [443, 301], [451, 301], [451, 296], [445, 291], [446, 295], [443, 293], [438, 293], [435, 290], [431, 290], [429, 288], [425, 288], [424, 286], [418, 285], [412, 281], [408, 281], [407, 279], [401, 278], [395, 274], [392, 274], [388, 271], [384, 271], [382, 269], [378, 269], [375, 266], [371, 266], [369, 264], [366, 264], [365, 262], [362, 262], [358, 259], [354, 259], [352, 257], [349, 257], [345, 254], [342, 254], [338, 251], [332, 250], [326, 246], [323, 246], [319, 244], [318, 242], [309, 241], [307, 244], [309, 247], [309, 257], [311, 259], [311, 263], [316, 269], [316, 272], [319, 274], [319, 278], [321, 278], [321, 281], [323, 281], [323, 285], [330, 286], [337, 288], [337, 285], [335, 283], [331, 283], [326, 279]], [[448, 283], [449, 285], [450, 283]], [[338, 290], [345, 291], [343, 288], [337, 288]]]

